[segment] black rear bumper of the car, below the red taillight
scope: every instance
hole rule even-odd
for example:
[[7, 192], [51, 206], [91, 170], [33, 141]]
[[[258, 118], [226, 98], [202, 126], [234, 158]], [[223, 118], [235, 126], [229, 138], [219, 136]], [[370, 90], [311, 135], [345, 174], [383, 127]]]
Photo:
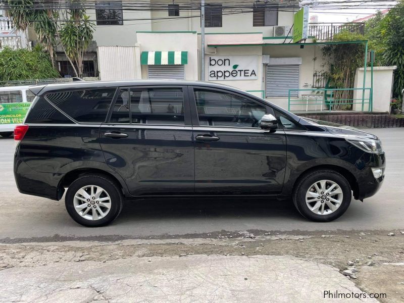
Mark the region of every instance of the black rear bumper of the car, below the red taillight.
[[20, 160], [14, 162], [14, 178], [21, 193], [60, 200], [65, 191], [58, 187], [62, 177], [62, 174], [38, 173]]

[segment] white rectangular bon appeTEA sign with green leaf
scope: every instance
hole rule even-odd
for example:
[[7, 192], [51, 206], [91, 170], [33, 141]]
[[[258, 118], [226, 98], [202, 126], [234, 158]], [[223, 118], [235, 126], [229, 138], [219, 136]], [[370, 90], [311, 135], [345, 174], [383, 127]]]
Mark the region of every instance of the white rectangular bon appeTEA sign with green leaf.
[[209, 80], [257, 80], [258, 56], [209, 56]]

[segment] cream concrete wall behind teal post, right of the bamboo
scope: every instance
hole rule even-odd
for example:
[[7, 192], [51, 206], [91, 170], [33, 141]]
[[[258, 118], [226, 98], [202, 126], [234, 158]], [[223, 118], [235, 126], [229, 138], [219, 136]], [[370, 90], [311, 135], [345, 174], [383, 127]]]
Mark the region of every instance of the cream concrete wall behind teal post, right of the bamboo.
[[[392, 96], [393, 87], [393, 72], [396, 66], [378, 66], [373, 68], [373, 112], [388, 112], [390, 109], [390, 99]], [[364, 68], [358, 68], [355, 74], [355, 88], [363, 88]], [[366, 84], [365, 87], [371, 87], [371, 70], [366, 69]], [[365, 98], [365, 102], [369, 102], [369, 90], [363, 94], [362, 90], [354, 92], [354, 99]], [[357, 100], [358, 102], [358, 100]], [[353, 107], [354, 111], [361, 111], [362, 104], [356, 104]], [[364, 105], [364, 111], [369, 110], [369, 105]]]

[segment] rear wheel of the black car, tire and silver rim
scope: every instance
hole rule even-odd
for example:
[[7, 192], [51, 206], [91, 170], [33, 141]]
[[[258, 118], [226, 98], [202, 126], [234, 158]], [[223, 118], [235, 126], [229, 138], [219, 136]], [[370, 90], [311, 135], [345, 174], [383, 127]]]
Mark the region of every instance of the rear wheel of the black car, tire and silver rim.
[[112, 179], [103, 175], [86, 175], [70, 184], [65, 205], [70, 217], [77, 223], [87, 227], [106, 226], [121, 213], [123, 195]]

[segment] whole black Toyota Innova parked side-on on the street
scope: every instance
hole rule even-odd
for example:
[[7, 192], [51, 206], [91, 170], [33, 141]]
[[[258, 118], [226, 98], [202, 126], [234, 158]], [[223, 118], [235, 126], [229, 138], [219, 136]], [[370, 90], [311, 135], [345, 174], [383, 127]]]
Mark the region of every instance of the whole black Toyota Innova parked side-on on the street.
[[292, 200], [331, 221], [384, 179], [380, 140], [297, 117], [242, 90], [205, 82], [33, 86], [14, 174], [22, 193], [60, 200], [76, 222], [103, 226], [125, 198]]

